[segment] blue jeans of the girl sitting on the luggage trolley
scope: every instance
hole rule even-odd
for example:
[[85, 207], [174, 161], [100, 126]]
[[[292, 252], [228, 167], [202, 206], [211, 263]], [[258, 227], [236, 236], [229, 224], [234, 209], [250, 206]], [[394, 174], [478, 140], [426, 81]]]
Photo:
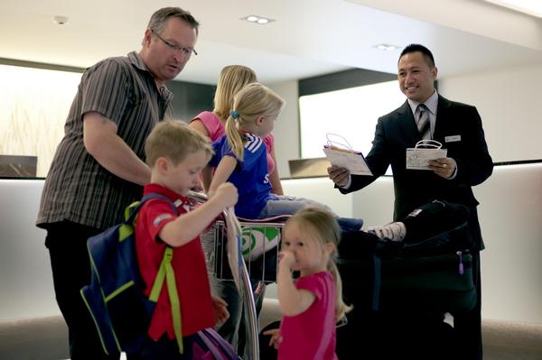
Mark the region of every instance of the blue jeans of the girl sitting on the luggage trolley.
[[[335, 215], [330, 207], [318, 201], [309, 198], [276, 195], [276, 198], [267, 200], [266, 207], [262, 209], [257, 218], [294, 215], [299, 209], [308, 206], [324, 208]], [[337, 215], [335, 215], [335, 217], [337, 217]], [[342, 232], [360, 231], [361, 226], [363, 226], [363, 220], [360, 218], [337, 217], [337, 222], [339, 223]]]

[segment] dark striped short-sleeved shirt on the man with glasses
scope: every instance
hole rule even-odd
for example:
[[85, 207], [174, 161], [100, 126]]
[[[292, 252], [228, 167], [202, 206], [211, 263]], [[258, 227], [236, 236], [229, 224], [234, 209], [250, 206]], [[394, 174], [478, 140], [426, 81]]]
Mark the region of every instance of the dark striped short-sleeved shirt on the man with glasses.
[[145, 139], [154, 125], [173, 117], [172, 98], [167, 88], [156, 88], [135, 51], [87, 69], [45, 180], [36, 225], [69, 220], [104, 229], [120, 222], [124, 208], [141, 198], [143, 187], [113, 175], [86, 151], [83, 115], [97, 111], [113, 121], [117, 135], [144, 160]]

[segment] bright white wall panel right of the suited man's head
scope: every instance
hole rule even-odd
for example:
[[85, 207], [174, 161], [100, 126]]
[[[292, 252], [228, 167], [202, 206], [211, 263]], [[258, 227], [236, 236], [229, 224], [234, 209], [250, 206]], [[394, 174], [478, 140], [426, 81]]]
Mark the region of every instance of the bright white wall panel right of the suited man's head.
[[478, 108], [494, 162], [542, 159], [542, 63], [444, 78], [439, 92]]

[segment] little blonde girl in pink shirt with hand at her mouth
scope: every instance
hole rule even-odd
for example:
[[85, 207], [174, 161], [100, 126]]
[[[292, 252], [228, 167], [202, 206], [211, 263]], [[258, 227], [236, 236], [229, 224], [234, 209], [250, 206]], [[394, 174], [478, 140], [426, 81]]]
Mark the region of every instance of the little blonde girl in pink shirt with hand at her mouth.
[[[277, 289], [280, 329], [269, 330], [279, 360], [334, 360], [335, 324], [350, 311], [337, 270], [340, 228], [322, 208], [303, 208], [285, 225]], [[292, 277], [299, 271], [300, 277]]]

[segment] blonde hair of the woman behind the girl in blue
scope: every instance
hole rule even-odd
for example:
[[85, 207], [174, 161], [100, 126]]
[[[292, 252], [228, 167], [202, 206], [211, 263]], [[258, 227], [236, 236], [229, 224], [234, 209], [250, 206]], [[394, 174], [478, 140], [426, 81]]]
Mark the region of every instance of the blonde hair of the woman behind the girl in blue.
[[222, 69], [215, 91], [213, 113], [222, 120], [228, 119], [233, 106], [233, 96], [251, 82], [257, 82], [256, 73], [246, 66], [229, 65]]

